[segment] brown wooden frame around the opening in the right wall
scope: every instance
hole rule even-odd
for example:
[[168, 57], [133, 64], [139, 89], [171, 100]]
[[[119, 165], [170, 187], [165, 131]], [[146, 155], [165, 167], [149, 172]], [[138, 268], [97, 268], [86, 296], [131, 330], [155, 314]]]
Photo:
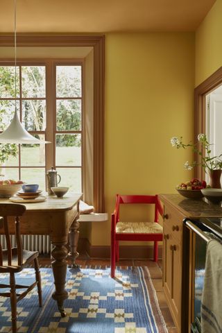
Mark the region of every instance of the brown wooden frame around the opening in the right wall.
[[[222, 85], [222, 67], [214, 72], [209, 78], [200, 83], [194, 89], [194, 143], [198, 144], [197, 136], [199, 133], [206, 133], [206, 103], [205, 98], [212, 90]], [[198, 147], [201, 148], [200, 146]], [[202, 151], [204, 154], [205, 152]], [[200, 162], [200, 156], [195, 153], [194, 160]], [[205, 171], [203, 167], [198, 165], [194, 170], [194, 177], [205, 179]]]

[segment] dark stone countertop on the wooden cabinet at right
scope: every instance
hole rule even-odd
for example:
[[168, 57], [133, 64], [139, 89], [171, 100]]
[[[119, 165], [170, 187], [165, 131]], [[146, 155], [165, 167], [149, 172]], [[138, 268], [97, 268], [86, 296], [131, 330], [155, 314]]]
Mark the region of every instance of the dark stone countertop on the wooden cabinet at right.
[[178, 208], [185, 217], [222, 217], [222, 207], [219, 204], [212, 204], [207, 199], [188, 199], [180, 194], [160, 194], [160, 200]]

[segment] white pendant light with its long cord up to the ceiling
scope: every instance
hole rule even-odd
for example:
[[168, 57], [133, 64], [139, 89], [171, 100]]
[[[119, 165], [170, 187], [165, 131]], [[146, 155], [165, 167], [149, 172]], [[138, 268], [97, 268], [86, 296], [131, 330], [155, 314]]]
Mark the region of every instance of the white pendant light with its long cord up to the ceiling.
[[15, 38], [15, 114], [14, 117], [6, 130], [0, 134], [1, 144], [49, 144], [51, 142], [44, 141], [33, 137], [27, 130], [22, 126], [19, 121], [16, 107], [17, 97], [17, 85], [16, 85], [16, 66], [17, 66], [17, 34], [16, 34], [16, 0], [15, 11], [14, 11], [14, 38]]

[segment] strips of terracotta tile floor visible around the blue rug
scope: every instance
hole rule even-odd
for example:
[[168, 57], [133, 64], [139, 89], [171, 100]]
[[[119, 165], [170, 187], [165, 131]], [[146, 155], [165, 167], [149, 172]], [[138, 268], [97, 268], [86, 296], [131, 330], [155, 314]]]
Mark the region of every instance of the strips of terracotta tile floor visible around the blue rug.
[[[39, 257], [40, 265], [46, 266], [50, 264], [49, 257]], [[109, 259], [90, 259], [86, 255], [80, 255], [76, 260], [76, 264], [82, 266], [110, 266]], [[162, 261], [159, 260], [158, 263], [153, 262], [153, 260], [120, 260], [117, 262], [117, 266], [147, 266], [148, 270], [151, 274], [151, 279], [153, 282], [153, 286], [155, 287], [155, 291], [157, 293], [157, 299], [160, 305], [160, 310], [162, 311], [162, 316], [164, 316], [164, 321], [167, 324], [167, 329], [169, 333], [178, 333], [176, 329], [173, 319], [171, 317], [169, 307], [167, 306], [167, 301], [164, 296], [164, 292], [162, 290]]]

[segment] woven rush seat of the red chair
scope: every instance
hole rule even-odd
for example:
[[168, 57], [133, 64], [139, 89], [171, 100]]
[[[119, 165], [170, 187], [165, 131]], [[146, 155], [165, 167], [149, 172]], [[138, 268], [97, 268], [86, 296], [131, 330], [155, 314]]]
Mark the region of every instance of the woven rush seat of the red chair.
[[116, 225], [117, 234], [162, 234], [163, 229], [155, 222], [121, 222]]

